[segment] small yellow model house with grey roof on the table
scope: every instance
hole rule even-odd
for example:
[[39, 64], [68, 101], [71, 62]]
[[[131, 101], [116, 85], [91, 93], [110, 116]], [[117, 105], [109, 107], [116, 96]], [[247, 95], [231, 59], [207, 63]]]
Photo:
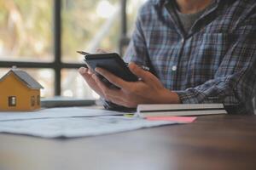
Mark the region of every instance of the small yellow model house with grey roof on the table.
[[0, 79], [0, 111], [38, 110], [41, 88], [25, 71], [10, 70]]

